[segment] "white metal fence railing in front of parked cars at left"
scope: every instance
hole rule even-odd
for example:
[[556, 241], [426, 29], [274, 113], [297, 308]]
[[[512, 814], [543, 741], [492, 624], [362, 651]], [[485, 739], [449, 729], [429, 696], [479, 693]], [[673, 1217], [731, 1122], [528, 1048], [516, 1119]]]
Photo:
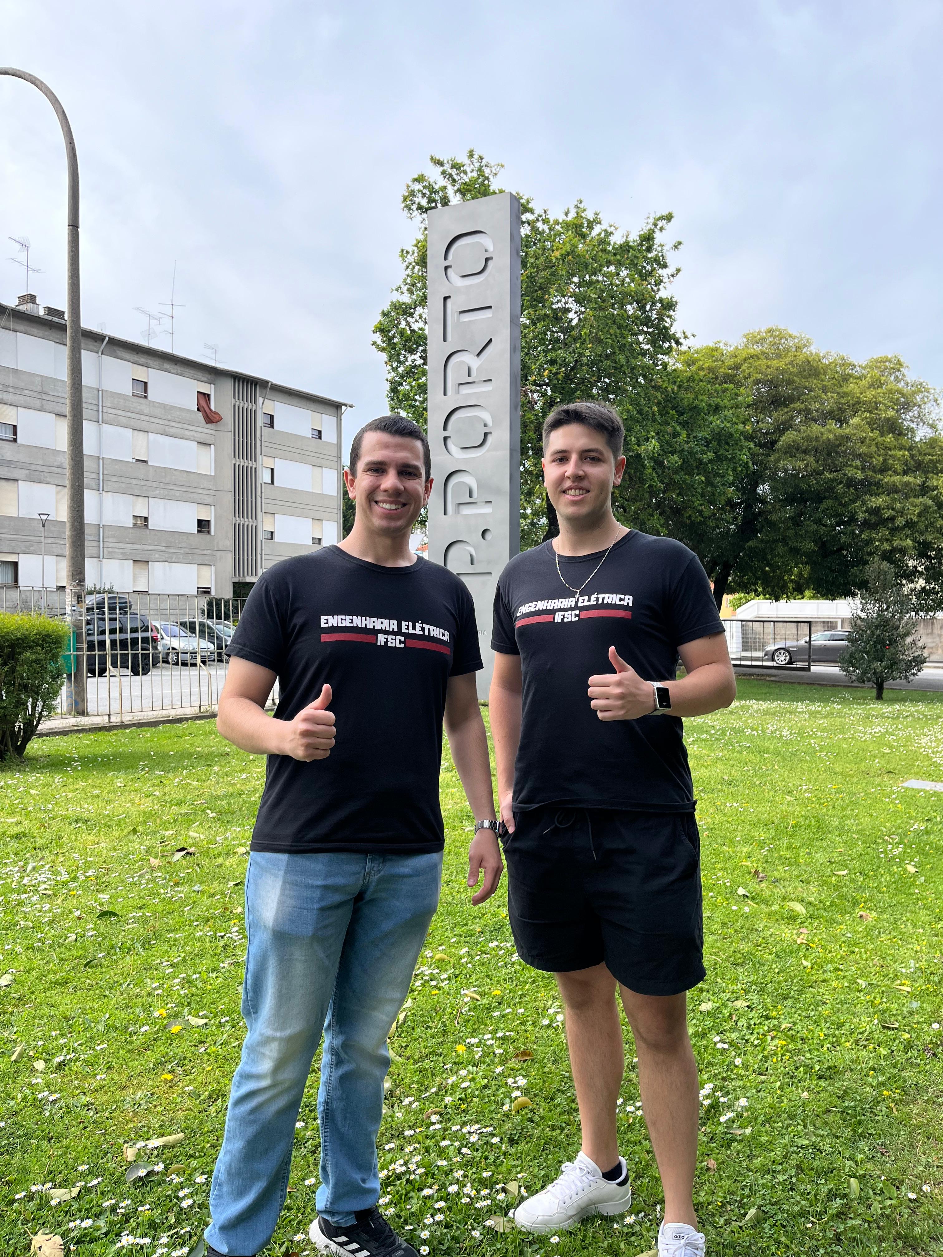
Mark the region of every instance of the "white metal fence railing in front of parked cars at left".
[[[84, 622], [84, 657], [73, 636], [64, 655], [65, 683], [48, 724], [214, 713], [226, 678], [225, 647], [244, 603], [206, 595], [88, 592], [78, 616]], [[77, 618], [64, 590], [0, 586], [0, 611], [40, 612], [73, 623]]]

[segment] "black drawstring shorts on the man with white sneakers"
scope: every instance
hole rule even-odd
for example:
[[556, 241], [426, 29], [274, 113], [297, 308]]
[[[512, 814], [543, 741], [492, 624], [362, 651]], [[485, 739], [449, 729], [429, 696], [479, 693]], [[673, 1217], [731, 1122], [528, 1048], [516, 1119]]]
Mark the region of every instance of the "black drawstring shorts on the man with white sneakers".
[[605, 962], [624, 987], [675, 996], [704, 979], [700, 836], [693, 812], [552, 803], [505, 833], [518, 955], [568, 973]]

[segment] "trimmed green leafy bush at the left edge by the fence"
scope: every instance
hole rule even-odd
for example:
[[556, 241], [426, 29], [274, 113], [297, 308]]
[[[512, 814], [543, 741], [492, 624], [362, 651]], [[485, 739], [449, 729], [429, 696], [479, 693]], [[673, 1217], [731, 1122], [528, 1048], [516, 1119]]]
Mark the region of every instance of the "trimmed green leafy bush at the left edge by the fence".
[[62, 689], [69, 626], [0, 613], [0, 759], [23, 755]]

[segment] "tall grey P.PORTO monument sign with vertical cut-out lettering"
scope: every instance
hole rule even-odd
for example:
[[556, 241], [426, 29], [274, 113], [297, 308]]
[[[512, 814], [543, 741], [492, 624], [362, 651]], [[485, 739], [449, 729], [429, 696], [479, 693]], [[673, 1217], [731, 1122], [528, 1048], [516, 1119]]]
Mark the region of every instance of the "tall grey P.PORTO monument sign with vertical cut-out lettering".
[[521, 548], [521, 202], [510, 192], [429, 214], [429, 558], [475, 601], [479, 694], [492, 602]]

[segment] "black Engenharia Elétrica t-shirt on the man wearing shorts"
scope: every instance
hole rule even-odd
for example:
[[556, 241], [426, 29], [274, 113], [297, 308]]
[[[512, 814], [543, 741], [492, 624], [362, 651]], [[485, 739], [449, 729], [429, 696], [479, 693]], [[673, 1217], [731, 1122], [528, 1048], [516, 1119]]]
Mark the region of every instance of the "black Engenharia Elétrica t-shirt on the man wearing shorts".
[[[560, 571], [578, 588], [604, 554], [561, 554]], [[576, 595], [556, 559], [551, 542], [518, 554], [494, 596], [492, 646], [521, 655], [523, 672], [514, 808], [693, 811], [681, 720], [600, 720], [586, 690], [612, 672], [610, 646], [646, 681], [666, 681], [678, 646], [723, 632], [704, 568], [680, 542], [632, 530]]]

